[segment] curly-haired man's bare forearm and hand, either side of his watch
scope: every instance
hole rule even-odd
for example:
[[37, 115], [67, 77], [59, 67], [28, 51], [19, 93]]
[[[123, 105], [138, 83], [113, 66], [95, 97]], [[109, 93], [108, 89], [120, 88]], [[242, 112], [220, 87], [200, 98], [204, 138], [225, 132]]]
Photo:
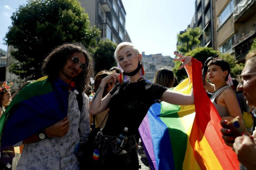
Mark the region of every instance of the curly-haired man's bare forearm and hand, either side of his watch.
[[[56, 124], [47, 127], [46, 129], [42, 129], [42, 131], [45, 132], [47, 137], [62, 137], [67, 134], [68, 130], [69, 120], [67, 120], [67, 117], [65, 117], [61, 121], [58, 121]], [[41, 141], [42, 139], [39, 138], [39, 133], [40, 132], [35, 133], [32, 136], [24, 139], [23, 144], [30, 144]]]

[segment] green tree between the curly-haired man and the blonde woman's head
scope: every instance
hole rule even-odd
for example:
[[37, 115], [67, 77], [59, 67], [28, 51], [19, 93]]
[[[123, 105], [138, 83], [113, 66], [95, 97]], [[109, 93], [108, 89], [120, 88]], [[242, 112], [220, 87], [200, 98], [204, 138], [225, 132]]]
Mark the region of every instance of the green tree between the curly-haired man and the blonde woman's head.
[[114, 58], [115, 48], [117, 48], [117, 44], [108, 39], [99, 41], [94, 53], [95, 73], [117, 66]]

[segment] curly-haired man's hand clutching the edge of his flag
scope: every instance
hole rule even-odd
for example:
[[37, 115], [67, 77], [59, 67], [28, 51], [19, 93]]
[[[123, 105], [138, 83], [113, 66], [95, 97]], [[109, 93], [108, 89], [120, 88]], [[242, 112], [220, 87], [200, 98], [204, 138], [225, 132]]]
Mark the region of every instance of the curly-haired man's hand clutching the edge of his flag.
[[67, 134], [69, 130], [69, 121], [67, 117], [58, 121], [56, 124], [53, 124], [45, 129], [47, 137], [62, 137]]

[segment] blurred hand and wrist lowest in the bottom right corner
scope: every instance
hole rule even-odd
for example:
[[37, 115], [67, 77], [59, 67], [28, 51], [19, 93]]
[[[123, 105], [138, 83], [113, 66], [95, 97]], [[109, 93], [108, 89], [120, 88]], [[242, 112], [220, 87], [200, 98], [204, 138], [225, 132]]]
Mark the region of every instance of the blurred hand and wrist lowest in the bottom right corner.
[[256, 169], [256, 144], [249, 136], [235, 138], [233, 150], [241, 164], [248, 169]]

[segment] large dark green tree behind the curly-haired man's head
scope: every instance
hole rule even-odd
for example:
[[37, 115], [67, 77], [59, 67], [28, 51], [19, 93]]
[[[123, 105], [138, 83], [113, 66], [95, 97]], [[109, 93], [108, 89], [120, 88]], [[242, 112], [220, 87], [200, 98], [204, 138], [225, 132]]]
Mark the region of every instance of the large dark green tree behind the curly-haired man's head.
[[89, 26], [88, 14], [77, 0], [29, 0], [11, 20], [5, 42], [16, 49], [11, 55], [17, 62], [10, 72], [26, 79], [41, 77], [42, 61], [56, 46], [81, 42], [89, 48], [100, 33]]

